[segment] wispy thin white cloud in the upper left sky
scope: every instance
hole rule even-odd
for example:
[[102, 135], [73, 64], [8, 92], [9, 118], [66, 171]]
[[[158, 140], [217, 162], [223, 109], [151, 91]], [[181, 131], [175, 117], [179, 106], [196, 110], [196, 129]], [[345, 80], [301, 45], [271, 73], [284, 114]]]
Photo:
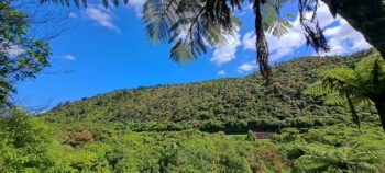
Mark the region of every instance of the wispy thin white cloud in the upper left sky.
[[121, 33], [120, 28], [113, 23], [113, 14], [102, 5], [89, 5], [82, 13], [84, 19], [91, 20], [98, 25]]

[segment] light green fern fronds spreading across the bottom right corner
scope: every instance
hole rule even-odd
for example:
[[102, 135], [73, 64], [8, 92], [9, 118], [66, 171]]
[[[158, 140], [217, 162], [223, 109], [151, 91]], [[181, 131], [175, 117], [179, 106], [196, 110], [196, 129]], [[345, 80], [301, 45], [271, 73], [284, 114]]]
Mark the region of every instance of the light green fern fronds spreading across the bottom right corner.
[[385, 162], [385, 140], [380, 127], [361, 130], [340, 124], [308, 131], [286, 129], [273, 137], [293, 172], [378, 172]]

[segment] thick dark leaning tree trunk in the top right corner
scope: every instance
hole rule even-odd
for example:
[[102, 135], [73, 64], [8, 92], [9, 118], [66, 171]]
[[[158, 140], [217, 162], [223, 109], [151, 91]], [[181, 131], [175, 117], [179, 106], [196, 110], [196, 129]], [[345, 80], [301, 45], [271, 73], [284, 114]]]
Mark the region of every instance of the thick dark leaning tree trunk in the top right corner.
[[385, 2], [383, 0], [322, 0], [330, 12], [345, 19], [385, 58]]

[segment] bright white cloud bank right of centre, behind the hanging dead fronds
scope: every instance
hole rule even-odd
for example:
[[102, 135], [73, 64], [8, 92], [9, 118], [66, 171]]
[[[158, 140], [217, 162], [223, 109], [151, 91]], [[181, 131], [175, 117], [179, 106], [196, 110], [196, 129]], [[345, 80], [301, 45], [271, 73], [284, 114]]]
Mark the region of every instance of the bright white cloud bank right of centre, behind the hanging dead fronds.
[[[363, 36], [352, 28], [345, 20], [340, 16], [334, 19], [324, 3], [320, 4], [317, 16], [331, 47], [330, 53], [322, 55], [342, 55], [370, 47]], [[299, 15], [292, 24], [294, 27], [280, 38], [266, 33], [271, 61], [278, 60], [306, 46]], [[254, 32], [246, 33], [242, 39], [243, 49], [255, 50], [255, 38]]]

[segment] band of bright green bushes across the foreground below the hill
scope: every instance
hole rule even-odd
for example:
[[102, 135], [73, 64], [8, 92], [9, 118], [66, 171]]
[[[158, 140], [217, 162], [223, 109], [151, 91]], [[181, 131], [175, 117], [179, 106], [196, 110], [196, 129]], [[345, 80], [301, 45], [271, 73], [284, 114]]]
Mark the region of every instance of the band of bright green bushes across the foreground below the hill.
[[0, 172], [378, 172], [385, 164], [385, 135], [366, 124], [285, 129], [272, 140], [63, 130], [19, 109], [0, 124]]

